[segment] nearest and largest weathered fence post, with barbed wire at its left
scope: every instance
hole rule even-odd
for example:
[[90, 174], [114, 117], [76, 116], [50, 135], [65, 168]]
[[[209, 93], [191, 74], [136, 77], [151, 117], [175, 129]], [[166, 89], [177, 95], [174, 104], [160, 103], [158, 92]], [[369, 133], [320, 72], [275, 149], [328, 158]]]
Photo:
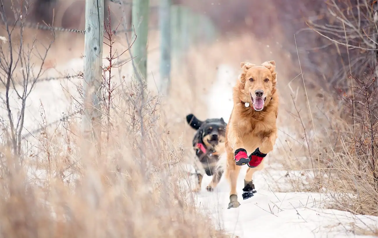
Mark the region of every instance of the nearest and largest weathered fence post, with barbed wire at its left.
[[104, 1], [85, 0], [84, 38], [84, 115], [82, 132], [100, 150], [102, 46], [104, 37]]

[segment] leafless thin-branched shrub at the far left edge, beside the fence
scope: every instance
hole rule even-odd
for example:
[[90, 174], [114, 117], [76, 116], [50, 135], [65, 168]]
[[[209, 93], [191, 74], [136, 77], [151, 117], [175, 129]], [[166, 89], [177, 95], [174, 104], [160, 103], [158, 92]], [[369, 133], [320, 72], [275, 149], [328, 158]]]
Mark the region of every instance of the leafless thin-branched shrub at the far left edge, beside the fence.
[[[26, 102], [44, 72], [43, 64], [54, 40], [50, 41], [47, 46], [40, 46], [37, 36], [35, 36], [31, 43], [25, 43], [23, 30], [28, 15], [28, 1], [12, 2], [15, 20], [8, 19], [3, 0], [0, 3], [0, 17], [5, 25], [6, 34], [1, 36], [3, 42], [0, 44], [0, 81], [5, 87], [5, 95], [2, 96], [2, 100], [8, 112], [3, 121], [7, 121], [4, 124], [7, 143], [12, 146], [13, 153], [20, 156]], [[26, 6], [23, 7], [24, 4]], [[54, 32], [51, 32], [54, 38]], [[40, 50], [41, 48], [42, 50]], [[38, 62], [38, 66], [36, 62]], [[14, 113], [11, 105], [11, 94], [16, 94], [20, 100], [17, 113]]]

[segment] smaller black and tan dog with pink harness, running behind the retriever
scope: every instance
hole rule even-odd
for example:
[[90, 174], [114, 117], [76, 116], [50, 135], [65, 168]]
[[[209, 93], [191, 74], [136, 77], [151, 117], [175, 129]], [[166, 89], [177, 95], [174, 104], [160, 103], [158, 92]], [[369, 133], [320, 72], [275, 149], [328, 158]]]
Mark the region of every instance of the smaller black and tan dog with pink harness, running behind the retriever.
[[194, 163], [198, 178], [197, 187], [194, 191], [199, 192], [201, 190], [203, 170], [200, 167], [202, 167], [208, 176], [212, 176], [211, 183], [206, 187], [206, 190], [212, 192], [223, 175], [223, 170], [217, 169], [217, 163], [219, 156], [225, 152], [227, 123], [223, 118], [200, 121], [193, 114], [187, 115], [186, 121], [189, 126], [197, 130], [193, 138], [193, 147], [196, 159], [198, 159], [196, 160], [197, 163]]

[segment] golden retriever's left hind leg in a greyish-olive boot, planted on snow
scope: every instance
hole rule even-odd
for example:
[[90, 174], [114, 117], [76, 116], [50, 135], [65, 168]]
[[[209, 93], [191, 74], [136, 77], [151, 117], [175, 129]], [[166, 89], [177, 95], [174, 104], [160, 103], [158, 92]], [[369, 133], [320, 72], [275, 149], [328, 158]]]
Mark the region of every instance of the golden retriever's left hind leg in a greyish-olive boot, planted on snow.
[[237, 192], [236, 192], [236, 184], [237, 178], [240, 172], [240, 166], [237, 166], [234, 161], [234, 153], [227, 153], [227, 168], [226, 168], [226, 177], [231, 186], [230, 191], [230, 203], [228, 204], [228, 209], [231, 207], [239, 207], [240, 203], [237, 201]]

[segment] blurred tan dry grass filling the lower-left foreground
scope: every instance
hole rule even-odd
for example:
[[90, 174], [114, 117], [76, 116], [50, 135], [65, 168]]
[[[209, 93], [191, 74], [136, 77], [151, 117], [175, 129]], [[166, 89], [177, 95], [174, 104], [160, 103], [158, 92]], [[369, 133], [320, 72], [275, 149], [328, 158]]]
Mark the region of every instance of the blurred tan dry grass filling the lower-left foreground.
[[160, 124], [159, 97], [150, 94], [142, 115], [135, 113], [140, 91], [134, 82], [115, 95], [119, 104], [101, 156], [95, 148], [81, 147], [74, 122], [62, 128], [63, 137], [56, 136], [59, 129], [44, 131], [44, 147], [31, 157], [39, 163], [29, 167], [29, 174], [46, 171], [37, 178], [43, 186], [3, 147], [2, 236], [226, 237], [184, 192], [188, 181], [179, 166], [183, 148], [170, 143]]

